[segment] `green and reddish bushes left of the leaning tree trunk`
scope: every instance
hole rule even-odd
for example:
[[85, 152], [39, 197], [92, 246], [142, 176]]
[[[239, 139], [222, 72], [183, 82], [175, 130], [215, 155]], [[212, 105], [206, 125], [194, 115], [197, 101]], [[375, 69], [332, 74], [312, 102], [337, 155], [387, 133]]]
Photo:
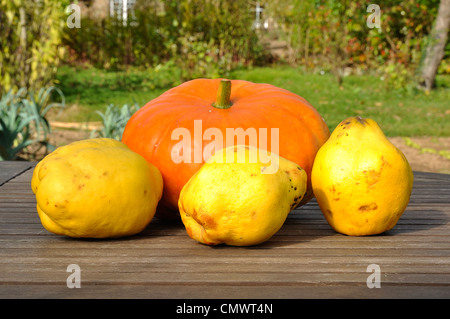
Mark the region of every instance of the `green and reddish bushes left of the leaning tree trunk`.
[[[405, 87], [420, 66], [439, 0], [382, 1], [380, 29], [370, 29], [370, 1], [271, 0], [293, 55], [309, 70], [378, 72], [386, 87]], [[376, 3], [376, 2], [375, 2]], [[406, 74], [405, 74], [406, 72]]]

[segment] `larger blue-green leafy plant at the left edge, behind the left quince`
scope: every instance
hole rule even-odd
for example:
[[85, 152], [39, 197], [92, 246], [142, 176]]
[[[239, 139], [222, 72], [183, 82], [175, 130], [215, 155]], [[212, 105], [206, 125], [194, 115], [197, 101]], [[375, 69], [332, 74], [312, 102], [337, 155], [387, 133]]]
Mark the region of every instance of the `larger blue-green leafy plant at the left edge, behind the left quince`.
[[[50, 102], [53, 91], [61, 97], [60, 103]], [[51, 150], [46, 114], [50, 109], [64, 105], [64, 96], [55, 87], [41, 89], [37, 96], [32, 92], [27, 94], [25, 88], [3, 94], [0, 100], [0, 160], [17, 159], [21, 152], [33, 158], [41, 147], [45, 152]], [[39, 148], [30, 151], [36, 144]]]

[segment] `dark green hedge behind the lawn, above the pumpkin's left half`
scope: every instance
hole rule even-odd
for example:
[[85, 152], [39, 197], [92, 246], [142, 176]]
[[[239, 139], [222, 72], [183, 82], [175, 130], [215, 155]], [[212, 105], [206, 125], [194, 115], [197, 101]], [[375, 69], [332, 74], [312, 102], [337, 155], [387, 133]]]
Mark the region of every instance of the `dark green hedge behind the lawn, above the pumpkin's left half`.
[[262, 58], [252, 19], [246, 2], [140, 1], [126, 25], [84, 16], [80, 29], [66, 28], [66, 61], [106, 69], [168, 64], [178, 69], [178, 81], [224, 76]]

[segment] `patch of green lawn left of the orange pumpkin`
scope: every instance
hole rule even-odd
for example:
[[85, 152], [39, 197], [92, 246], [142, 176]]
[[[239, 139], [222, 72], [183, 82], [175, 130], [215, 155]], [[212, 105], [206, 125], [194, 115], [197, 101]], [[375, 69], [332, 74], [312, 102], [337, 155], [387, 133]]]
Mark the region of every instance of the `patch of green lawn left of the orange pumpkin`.
[[64, 93], [67, 110], [55, 114], [63, 121], [98, 121], [96, 111], [104, 112], [109, 104], [142, 106], [173, 85], [176, 74], [162, 71], [105, 71], [95, 68], [58, 69], [57, 82]]

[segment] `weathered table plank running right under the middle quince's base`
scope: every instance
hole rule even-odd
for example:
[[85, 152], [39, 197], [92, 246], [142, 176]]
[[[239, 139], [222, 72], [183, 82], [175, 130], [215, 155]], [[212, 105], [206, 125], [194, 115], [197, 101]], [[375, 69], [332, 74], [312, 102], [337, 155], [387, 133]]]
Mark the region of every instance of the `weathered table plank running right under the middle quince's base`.
[[[21, 249], [27, 251], [34, 249], [39, 252], [39, 249], [80, 249], [82, 251], [86, 249], [202, 249], [205, 252], [211, 252], [213, 250], [222, 250], [218, 247], [204, 247], [201, 244], [197, 244], [192, 241], [187, 235], [181, 236], [148, 236], [148, 237], [134, 237], [129, 241], [124, 242], [119, 240], [115, 243], [103, 242], [98, 240], [95, 242], [83, 241], [83, 240], [64, 240], [56, 238], [53, 235], [49, 236], [33, 236], [27, 241], [14, 240], [14, 236], [0, 238], [0, 251], [5, 253], [7, 249]], [[404, 236], [403, 238], [392, 238], [388, 240], [374, 240], [374, 241], [346, 241], [339, 237], [324, 238], [324, 237], [309, 237], [305, 239], [299, 239], [296, 236], [276, 236], [271, 238], [268, 242], [258, 246], [258, 248], [246, 248], [249, 250], [267, 250], [267, 249], [366, 249], [367, 251], [380, 251], [380, 249], [425, 249], [429, 251], [433, 250], [449, 250], [450, 245], [445, 236], [433, 236], [425, 239], [417, 239]], [[0, 253], [2, 254], [2, 253]]]

